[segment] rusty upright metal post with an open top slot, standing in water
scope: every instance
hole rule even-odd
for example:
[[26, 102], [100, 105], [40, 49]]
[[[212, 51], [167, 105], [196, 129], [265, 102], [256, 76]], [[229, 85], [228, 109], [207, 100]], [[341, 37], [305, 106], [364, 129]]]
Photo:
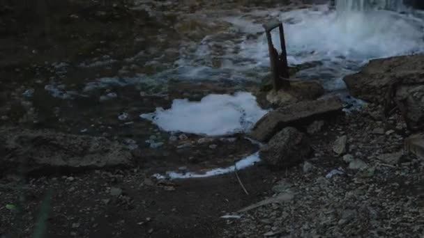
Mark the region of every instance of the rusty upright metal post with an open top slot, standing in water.
[[[290, 86], [289, 82], [289, 67], [287, 65], [287, 51], [285, 45], [285, 36], [284, 29], [282, 27], [282, 22], [270, 22], [264, 24], [264, 29], [266, 32], [266, 39], [268, 40], [268, 50], [269, 58], [271, 61], [271, 74], [273, 77], [273, 87], [274, 90], [280, 90], [280, 88], [288, 88]], [[271, 31], [275, 28], [280, 31], [280, 44], [281, 44], [281, 54], [278, 55], [277, 49], [273, 45], [273, 40], [271, 37]]]

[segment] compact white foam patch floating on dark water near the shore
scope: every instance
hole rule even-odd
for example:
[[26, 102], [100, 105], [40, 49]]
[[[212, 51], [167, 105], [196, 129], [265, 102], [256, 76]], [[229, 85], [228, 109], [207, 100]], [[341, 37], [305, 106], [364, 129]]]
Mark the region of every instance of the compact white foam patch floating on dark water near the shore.
[[140, 115], [167, 132], [223, 136], [247, 132], [266, 113], [251, 93], [208, 95], [200, 102], [174, 100], [170, 109]]

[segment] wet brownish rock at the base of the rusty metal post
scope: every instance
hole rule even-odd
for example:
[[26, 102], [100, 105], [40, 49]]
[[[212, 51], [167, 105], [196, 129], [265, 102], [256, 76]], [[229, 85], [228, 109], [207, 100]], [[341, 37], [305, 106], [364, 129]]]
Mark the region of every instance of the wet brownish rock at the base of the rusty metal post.
[[296, 102], [316, 100], [324, 95], [324, 88], [317, 81], [291, 81], [290, 88], [271, 90], [266, 100], [275, 106], [288, 106]]

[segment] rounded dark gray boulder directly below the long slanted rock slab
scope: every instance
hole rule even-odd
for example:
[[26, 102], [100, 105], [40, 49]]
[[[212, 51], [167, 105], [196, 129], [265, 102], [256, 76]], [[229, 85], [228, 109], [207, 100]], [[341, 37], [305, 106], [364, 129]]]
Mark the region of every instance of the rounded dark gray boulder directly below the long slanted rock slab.
[[308, 138], [294, 127], [275, 134], [259, 151], [259, 157], [271, 168], [287, 168], [308, 159], [312, 152]]

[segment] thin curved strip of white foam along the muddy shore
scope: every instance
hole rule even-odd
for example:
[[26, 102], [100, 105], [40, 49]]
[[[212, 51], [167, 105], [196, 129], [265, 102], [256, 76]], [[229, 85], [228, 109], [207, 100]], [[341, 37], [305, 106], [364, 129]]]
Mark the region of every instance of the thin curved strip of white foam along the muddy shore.
[[250, 166], [255, 165], [255, 163], [261, 161], [261, 159], [259, 158], [259, 152], [256, 152], [255, 154], [251, 154], [248, 157], [245, 157], [243, 159], [241, 159], [240, 161], [236, 162], [235, 166], [229, 166], [227, 168], [216, 168], [213, 170], [209, 170], [206, 171], [205, 173], [192, 173], [192, 172], [188, 172], [188, 173], [176, 173], [176, 172], [167, 172], [166, 176], [160, 175], [160, 174], [155, 174], [153, 175], [153, 177], [157, 177], [159, 179], [164, 179], [166, 177], [168, 177], [171, 180], [175, 180], [175, 179], [187, 179], [187, 178], [199, 178], [199, 177], [212, 177], [212, 176], [216, 176], [216, 175], [223, 175], [226, 173], [232, 173], [235, 171], [235, 169], [237, 170], [241, 170], [244, 168], [248, 168]]

